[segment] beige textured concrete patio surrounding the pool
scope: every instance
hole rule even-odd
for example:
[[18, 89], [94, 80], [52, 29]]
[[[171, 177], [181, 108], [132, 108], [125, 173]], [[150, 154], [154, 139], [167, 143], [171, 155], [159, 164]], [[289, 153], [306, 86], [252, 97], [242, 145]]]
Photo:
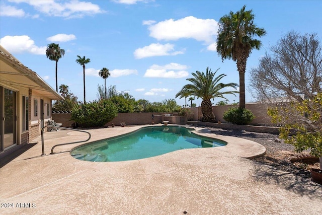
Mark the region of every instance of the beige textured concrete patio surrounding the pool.
[[[90, 141], [142, 126], [87, 130]], [[190, 126], [191, 127], [191, 126]], [[55, 144], [86, 133], [46, 132], [0, 169], [1, 214], [321, 214], [322, 186], [247, 158], [265, 153], [256, 142], [223, 139], [225, 147], [186, 149], [141, 160], [87, 162]], [[74, 144], [57, 147], [69, 151]], [[20, 206], [20, 207], [19, 207]]]

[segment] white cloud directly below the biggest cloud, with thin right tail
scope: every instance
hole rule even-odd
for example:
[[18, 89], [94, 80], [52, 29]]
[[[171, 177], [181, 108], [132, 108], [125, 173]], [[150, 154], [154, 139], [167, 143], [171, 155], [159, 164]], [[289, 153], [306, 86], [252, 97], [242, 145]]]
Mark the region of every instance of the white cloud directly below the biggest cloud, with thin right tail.
[[165, 45], [160, 43], [152, 43], [149, 46], [138, 48], [134, 51], [134, 57], [141, 59], [152, 56], [165, 56], [183, 54], [184, 51], [174, 51], [174, 44], [167, 43]]

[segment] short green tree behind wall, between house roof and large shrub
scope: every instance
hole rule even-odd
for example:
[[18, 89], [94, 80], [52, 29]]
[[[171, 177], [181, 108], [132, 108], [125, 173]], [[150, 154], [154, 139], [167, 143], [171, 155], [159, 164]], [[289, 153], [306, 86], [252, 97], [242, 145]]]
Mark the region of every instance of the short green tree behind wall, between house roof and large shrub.
[[77, 96], [69, 92], [69, 87], [67, 85], [60, 85], [59, 93], [64, 97], [64, 100], [56, 101], [53, 104], [52, 110], [72, 110], [72, 108], [78, 104]]

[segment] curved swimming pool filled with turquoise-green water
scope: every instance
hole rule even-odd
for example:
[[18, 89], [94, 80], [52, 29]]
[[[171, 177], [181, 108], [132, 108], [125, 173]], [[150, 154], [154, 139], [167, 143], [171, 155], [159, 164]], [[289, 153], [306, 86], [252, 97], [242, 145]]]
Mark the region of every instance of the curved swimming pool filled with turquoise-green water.
[[199, 136], [192, 130], [181, 126], [147, 126], [76, 147], [70, 154], [84, 161], [114, 162], [149, 158], [183, 149], [227, 145], [223, 140]]

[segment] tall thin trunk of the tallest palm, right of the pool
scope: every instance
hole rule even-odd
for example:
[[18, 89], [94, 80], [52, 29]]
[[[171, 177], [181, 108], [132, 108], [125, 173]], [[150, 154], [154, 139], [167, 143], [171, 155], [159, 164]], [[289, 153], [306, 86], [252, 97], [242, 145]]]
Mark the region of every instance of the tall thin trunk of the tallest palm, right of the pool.
[[237, 59], [237, 70], [239, 73], [239, 107], [245, 108], [245, 72], [246, 72], [247, 57], [246, 53], [241, 54], [241, 57]]

